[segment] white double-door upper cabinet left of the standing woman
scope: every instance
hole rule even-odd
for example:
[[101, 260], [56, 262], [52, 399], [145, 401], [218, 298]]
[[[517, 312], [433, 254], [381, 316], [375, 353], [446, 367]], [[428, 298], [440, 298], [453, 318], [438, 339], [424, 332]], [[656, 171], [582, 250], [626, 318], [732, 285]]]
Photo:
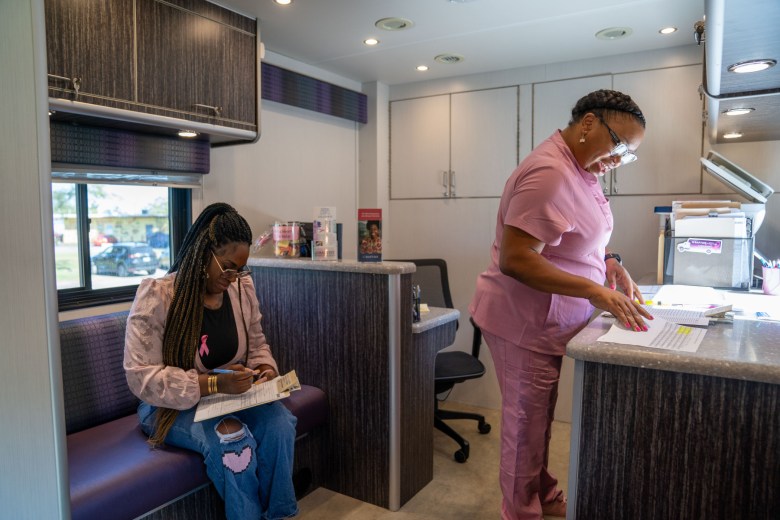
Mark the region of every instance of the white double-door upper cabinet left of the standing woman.
[[390, 103], [390, 197], [498, 197], [517, 166], [517, 87]]

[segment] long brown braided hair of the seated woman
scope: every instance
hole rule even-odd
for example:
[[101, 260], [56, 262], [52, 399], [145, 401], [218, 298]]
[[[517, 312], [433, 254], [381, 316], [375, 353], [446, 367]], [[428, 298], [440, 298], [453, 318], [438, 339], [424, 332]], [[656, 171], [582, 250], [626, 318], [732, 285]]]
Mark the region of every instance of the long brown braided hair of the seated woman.
[[[211, 253], [226, 244], [251, 245], [252, 230], [229, 204], [217, 202], [206, 207], [187, 231], [179, 254], [169, 273], [176, 272], [173, 299], [165, 320], [163, 363], [184, 370], [195, 367], [195, 355], [203, 323], [206, 270]], [[240, 282], [239, 282], [240, 283]], [[158, 408], [152, 446], [163, 444], [178, 411]]]

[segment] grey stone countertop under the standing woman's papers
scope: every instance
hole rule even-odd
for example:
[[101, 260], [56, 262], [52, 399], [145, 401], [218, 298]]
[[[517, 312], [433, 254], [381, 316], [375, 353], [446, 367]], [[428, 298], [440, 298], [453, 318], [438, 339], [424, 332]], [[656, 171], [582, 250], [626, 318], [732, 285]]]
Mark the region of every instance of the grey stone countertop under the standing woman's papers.
[[696, 352], [597, 341], [613, 323], [599, 315], [568, 343], [566, 353], [582, 361], [780, 384], [778, 322], [712, 322]]

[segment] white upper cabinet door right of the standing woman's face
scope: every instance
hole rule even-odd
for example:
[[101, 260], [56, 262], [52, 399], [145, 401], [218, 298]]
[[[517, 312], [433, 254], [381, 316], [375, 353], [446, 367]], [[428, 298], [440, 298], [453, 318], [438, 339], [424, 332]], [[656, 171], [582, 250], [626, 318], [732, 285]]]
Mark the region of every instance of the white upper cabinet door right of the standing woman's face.
[[701, 80], [701, 65], [615, 74], [615, 90], [636, 101], [647, 129], [639, 160], [613, 171], [613, 194], [701, 193]]

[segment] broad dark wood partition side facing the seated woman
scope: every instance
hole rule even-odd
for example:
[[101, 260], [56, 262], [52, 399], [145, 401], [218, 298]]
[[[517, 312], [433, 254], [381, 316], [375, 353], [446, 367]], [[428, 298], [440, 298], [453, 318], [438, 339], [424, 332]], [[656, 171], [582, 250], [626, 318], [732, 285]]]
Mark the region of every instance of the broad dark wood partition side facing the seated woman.
[[387, 507], [388, 277], [252, 270], [281, 370], [327, 395], [325, 487]]

